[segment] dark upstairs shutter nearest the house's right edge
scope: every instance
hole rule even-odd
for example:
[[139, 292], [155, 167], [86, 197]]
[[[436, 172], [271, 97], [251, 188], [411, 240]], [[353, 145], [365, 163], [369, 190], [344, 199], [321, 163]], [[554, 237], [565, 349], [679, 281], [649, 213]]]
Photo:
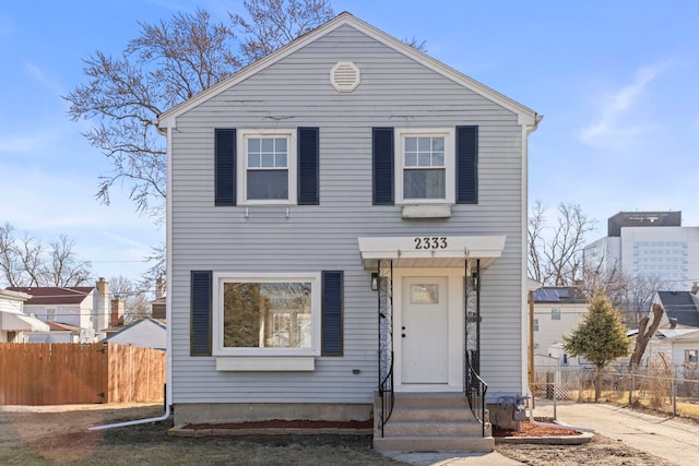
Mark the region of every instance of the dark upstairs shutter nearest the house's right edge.
[[478, 203], [478, 127], [457, 127], [457, 204]]

